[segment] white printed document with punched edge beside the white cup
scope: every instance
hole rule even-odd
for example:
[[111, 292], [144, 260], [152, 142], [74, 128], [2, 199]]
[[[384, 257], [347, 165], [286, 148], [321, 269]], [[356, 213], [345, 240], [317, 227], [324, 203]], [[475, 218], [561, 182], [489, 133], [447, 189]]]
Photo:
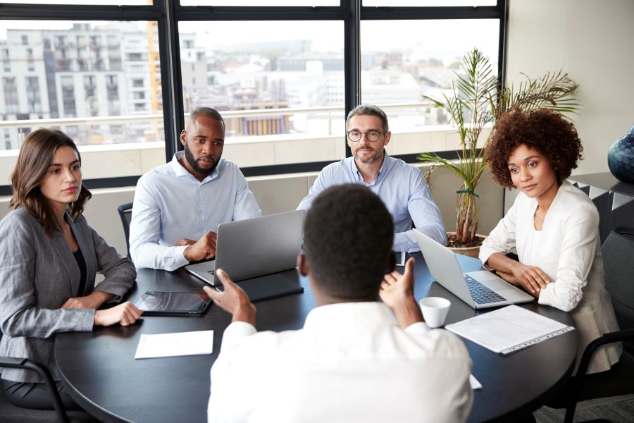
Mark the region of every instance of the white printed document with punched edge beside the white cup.
[[517, 305], [509, 305], [448, 324], [445, 329], [495, 353], [509, 354], [574, 330], [559, 321]]

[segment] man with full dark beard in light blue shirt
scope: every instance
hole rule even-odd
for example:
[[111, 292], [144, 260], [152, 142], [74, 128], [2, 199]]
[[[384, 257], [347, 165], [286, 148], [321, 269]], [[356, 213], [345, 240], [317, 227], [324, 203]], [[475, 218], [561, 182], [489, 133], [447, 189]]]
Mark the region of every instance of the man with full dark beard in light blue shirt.
[[180, 133], [184, 152], [139, 179], [130, 222], [135, 266], [175, 270], [216, 255], [216, 231], [227, 221], [261, 216], [237, 164], [222, 159], [225, 122], [194, 109]]

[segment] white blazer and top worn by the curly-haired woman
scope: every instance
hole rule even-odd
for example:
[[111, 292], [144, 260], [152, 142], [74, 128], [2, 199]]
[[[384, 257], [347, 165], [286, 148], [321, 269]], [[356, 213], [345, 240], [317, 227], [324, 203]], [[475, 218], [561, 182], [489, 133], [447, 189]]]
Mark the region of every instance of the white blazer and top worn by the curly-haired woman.
[[[486, 263], [493, 253], [516, 247], [522, 264], [542, 269], [551, 283], [540, 291], [539, 302], [571, 312], [580, 360], [590, 341], [619, 330], [604, 287], [599, 213], [588, 195], [568, 181], [557, 190], [541, 231], [535, 229], [536, 209], [537, 200], [521, 192], [480, 247], [480, 260]], [[620, 343], [606, 345], [595, 353], [588, 372], [609, 369], [620, 355]]]

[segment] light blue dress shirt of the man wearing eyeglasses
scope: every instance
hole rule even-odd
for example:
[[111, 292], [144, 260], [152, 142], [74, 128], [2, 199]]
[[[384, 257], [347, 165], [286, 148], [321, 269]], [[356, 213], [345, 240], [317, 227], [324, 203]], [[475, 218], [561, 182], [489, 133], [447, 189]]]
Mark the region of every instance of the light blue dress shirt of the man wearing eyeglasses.
[[[447, 245], [447, 233], [421, 171], [383, 152], [383, 165], [376, 178], [366, 183], [356, 168], [354, 157], [347, 157], [322, 169], [315, 183], [297, 209], [308, 210], [315, 197], [326, 188], [344, 183], [360, 183], [380, 197], [394, 219], [394, 250], [420, 251], [413, 231], [418, 231]], [[361, 219], [361, 216], [359, 217]]]

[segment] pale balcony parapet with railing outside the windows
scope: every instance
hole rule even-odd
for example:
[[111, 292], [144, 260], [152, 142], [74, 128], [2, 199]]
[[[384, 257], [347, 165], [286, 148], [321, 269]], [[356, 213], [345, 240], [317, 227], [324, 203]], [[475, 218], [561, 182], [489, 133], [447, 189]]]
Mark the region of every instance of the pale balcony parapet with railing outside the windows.
[[[423, 119], [419, 118], [423, 115], [423, 107], [431, 105], [417, 103], [382, 106], [390, 116], [390, 130], [393, 134], [392, 142], [385, 147], [389, 154], [459, 149], [456, 128], [449, 125], [423, 125]], [[304, 133], [247, 136], [232, 136], [228, 133], [223, 157], [242, 168], [337, 161], [345, 156], [345, 117], [342, 107], [221, 111], [221, 114], [227, 123], [232, 119], [254, 120], [258, 117], [262, 121], [271, 121], [267, 116], [297, 118], [301, 114], [318, 116], [321, 120]], [[408, 124], [399, 124], [399, 118]], [[411, 124], [416, 121], [420, 123]], [[0, 122], [0, 133], [4, 129], [17, 130], [20, 139], [23, 139], [30, 130], [51, 126], [66, 131], [71, 138], [79, 140], [80, 144], [81, 141], [88, 141], [87, 145], [79, 146], [86, 179], [139, 176], [154, 166], [165, 163], [161, 114], [5, 121]], [[228, 125], [228, 131], [229, 129]], [[483, 139], [487, 133], [488, 130], [483, 131]], [[13, 137], [15, 135], [13, 133]], [[113, 143], [115, 139], [124, 141]], [[178, 140], [170, 142], [175, 143]], [[14, 140], [13, 149], [0, 151], [0, 181], [5, 184], [15, 166], [17, 144]], [[0, 182], [0, 185], [5, 184]]]

